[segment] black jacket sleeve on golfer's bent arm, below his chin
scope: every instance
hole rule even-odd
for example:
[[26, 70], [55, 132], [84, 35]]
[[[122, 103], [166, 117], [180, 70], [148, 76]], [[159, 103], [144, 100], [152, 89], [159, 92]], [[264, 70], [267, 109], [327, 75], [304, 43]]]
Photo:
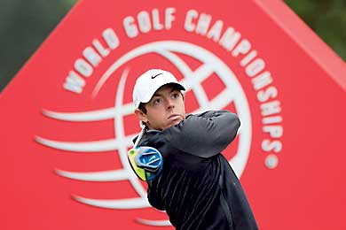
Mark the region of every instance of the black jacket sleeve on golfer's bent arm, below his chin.
[[162, 134], [176, 149], [199, 157], [212, 157], [233, 141], [239, 126], [240, 119], [230, 111], [206, 111], [187, 116]]

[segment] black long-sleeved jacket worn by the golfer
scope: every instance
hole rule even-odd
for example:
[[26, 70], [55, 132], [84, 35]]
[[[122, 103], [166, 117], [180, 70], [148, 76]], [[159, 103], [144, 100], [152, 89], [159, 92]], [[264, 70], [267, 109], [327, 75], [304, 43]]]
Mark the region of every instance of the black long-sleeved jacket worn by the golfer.
[[163, 131], [146, 131], [139, 146], [159, 149], [163, 169], [148, 182], [148, 200], [177, 229], [257, 229], [240, 181], [220, 154], [240, 126], [229, 111], [188, 115]]

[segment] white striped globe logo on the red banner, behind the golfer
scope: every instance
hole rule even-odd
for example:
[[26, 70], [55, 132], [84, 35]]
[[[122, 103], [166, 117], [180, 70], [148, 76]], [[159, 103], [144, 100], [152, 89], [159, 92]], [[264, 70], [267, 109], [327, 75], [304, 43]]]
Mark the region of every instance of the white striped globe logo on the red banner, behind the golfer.
[[[199, 109], [193, 113], [207, 110], [222, 110], [230, 103], [234, 104], [235, 110], [240, 118], [241, 126], [239, 129], [239, 142], [235, 155], [229, 159], [234, 172], [240, 178], [244, 172], [248, 162], [249, 149], [251, 144], [251, 116], [248, 107], [248, 100], [245, 96], [240, 82], [237, 80], [228, 65], [217, 58], [216, 55], [208, 50], [201, 48], [189, 42], [180, 41], [161, 41], [146, 43], [134, 50], [130, 50], [122, 58], [117, 59], [113, 65], [110, 65], [106, 72], [98, 80], [93, 90], [92, 96], [98, 96], [98, 92], [106, 84], [112, 75], [121, 67], [126, 66], [131, 60], [147, 54], [157, 54], [174, 65], [177, 70], [184, 76], [181, 83], [186, 88], [186, 93], [193, 93]], [[193, 70], [179, 54], [195, 58], [201, 62], [201, 66]], [[145, 71], [145, 70], [144, 70]], [[93, 199], [83, 196], [74, 196], [75, 200], [80, 203], [89, 204], [99, 208], [130, 210], [151, 207], [147, 202], [146, 191], [135, 173], [131, 171], [127, 151], [133, 146], [132, 139], [137, 134], [125, 135], [123, 117], [133, 113], [135, 107], [132, 103], [123, 103], [125, 93], [125, 83], [129, 76], [130, 69], [125, 68], [122, 72], [119, 84], [117, 86], [114, 107], [105, 108], [97, 111], [43, 111], [43, 115], [51, 119], [58, 119], [69, 122], [91, 122], [111, 119], [114, 121], [113, 138], [97, 141], [97, 142], [59, 142], [40, 136], [35, 137], [35, 141], [53, 149], [72, 151], [72, 152], [101, 152], [116, 150], [122, 162], [122, 169], [108, 170], [101, 172], [68, 172], [64, 170], [56, 170], [60, 176], [83, 181], [121, 181], [128, 180], [131, 186], [136, 190], [138, 196], [126, 199]], [[201, 82], [207, 80], [211, 74], [215, 74], [224, 84], [224, 88], [217, 92], [211, 100], [208, 99], [205, 88]], [[138, 122], [139, 125], [139, 122]], [[116, 137], [116, 138], [115, 138]], [[137, 219], [139, 223], [149, 226], [169, 226], [169, 220], [151, 220]]]

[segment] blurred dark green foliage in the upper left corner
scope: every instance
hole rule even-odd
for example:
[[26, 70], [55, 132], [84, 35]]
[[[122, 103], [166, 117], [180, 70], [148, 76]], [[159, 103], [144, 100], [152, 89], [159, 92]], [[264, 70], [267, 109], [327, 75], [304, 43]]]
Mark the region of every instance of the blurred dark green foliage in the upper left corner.
[[76, 0], [0, 0], [0, 89], [37, 50]]

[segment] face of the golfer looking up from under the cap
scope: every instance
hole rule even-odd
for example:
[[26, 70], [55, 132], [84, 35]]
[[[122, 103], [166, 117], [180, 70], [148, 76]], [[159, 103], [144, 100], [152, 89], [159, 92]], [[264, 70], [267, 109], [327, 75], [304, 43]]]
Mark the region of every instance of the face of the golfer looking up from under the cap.
[[184, 97], [170, 84], [156, 90], [152, 99], [145, 103], [145, 109], [146, 114], [138, 109], [135, 113], [149, 129], [164, 130], [177, 125], [186, 116]]

